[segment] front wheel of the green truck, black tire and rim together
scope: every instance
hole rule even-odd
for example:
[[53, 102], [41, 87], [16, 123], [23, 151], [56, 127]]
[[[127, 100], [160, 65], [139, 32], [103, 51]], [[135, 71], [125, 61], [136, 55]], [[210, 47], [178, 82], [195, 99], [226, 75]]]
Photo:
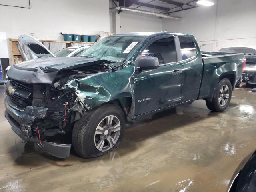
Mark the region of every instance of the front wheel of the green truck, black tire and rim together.
[[73, 148], [83, 158], [101, 156], [119, 146], [124, 128], [125, 117], [122, 109], [114, 104], [103, 105], [90, 111], [74, 124]]

